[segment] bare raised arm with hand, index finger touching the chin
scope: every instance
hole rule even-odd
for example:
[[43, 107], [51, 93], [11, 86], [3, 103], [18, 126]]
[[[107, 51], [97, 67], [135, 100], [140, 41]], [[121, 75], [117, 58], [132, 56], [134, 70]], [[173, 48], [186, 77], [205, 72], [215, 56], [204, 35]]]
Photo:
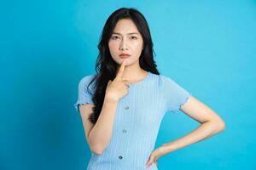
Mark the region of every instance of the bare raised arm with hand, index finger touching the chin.
[[129, 82], [123, 80], [124, 70], [125, 60], [120, 65], [113, 82], [108, 80], [102, 111], [95, 125], [88, 120], [88, 113], [92, 112], [91, 105], [83, 106], [83, 111], [81, 112], [90, 150], [99, 155], [107, 148], [112, 138], [113, 122], [119, 99], [128, 94]]

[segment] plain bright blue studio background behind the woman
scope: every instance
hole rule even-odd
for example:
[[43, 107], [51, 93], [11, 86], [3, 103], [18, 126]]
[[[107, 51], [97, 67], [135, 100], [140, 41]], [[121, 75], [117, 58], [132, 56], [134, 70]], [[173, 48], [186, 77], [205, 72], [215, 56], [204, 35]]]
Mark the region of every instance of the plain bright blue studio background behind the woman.
[[[0, 169], [85, 169], [73, 104], [95, 73], [102, 27], [121, 7], [148, 20], [155, 60], [224, 119], [210, 139], [158, 160], [161, 169], [256, 169], [256, 1], [0, 1]], [[169, 113], [169, 114], [168, 114]], [[167, 112], [155, 148], [200, 124]]]

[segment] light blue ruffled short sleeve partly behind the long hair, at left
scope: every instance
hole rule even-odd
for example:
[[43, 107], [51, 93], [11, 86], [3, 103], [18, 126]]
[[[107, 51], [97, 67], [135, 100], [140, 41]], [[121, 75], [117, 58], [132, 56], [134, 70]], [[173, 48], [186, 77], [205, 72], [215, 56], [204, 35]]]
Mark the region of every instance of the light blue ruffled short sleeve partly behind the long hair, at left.
[[[78, 99], [77, 99], [77, 102], [74, 104], [76, 111], [79, 111], [79, 105], [94, 104], [92, 101], [92, 94], [90, 94], [95, 92], [94, 82], [90, 83], [92, 78], [93, 78], [93, 75], [88, 75], [86, 77], [83, 77], [79, 82]], [[90, 86], [89, 86], [90, 91], [88, 91], [88, 88], [87, 88], [89, 83], [90, 83]]]

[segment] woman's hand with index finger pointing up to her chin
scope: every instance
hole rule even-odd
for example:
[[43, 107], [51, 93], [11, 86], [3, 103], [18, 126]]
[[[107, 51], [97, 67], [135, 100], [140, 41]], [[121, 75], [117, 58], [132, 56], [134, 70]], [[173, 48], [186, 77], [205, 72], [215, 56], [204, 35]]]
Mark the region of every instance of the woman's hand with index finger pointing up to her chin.
[[119, 71], [113, 81], [109, 80], [106, 88], [106, 96], [108, 99], [119, 101], [123, 96], [128, 94], [129, 81], [123, 79], [125, 71], [125, 60], [119, 67]]

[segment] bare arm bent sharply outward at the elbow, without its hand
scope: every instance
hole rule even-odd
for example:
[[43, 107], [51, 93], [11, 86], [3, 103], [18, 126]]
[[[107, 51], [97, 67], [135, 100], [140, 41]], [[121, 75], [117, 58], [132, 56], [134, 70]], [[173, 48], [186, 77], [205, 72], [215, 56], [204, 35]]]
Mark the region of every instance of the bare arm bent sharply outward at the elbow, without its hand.
[[201, 125], [180, 139], [167, 144], [162, 144], [161, 147], [164, 155], [189, 144], [194, 144], [203, 139], [207, 139], [225, 129], [224, 121], [214, 111], [207, 107], [207, 105], [201, 103], [201, 101], [195, 99], [193, 96], [190, 96], [188, 101], [181, 106], [181, 111], [195, 119], [195, 121], [200, 122]]

